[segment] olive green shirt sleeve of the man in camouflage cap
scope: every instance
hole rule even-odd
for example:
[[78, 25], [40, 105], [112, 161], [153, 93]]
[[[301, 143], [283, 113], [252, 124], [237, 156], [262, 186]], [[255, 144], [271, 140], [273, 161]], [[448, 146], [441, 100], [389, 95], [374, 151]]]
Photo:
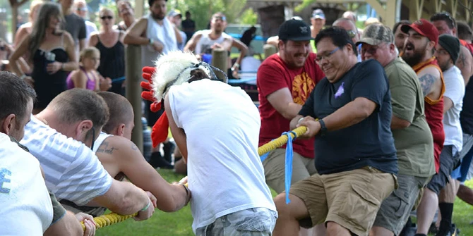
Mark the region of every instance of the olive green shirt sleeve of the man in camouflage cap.
[[390, 75], [391, 106], [393, 115], [402, 120], [412, 123], [416, 110], [417, 91], [414, 79], [409, 74], [403, 73], [400, 68], [396, 68]]

